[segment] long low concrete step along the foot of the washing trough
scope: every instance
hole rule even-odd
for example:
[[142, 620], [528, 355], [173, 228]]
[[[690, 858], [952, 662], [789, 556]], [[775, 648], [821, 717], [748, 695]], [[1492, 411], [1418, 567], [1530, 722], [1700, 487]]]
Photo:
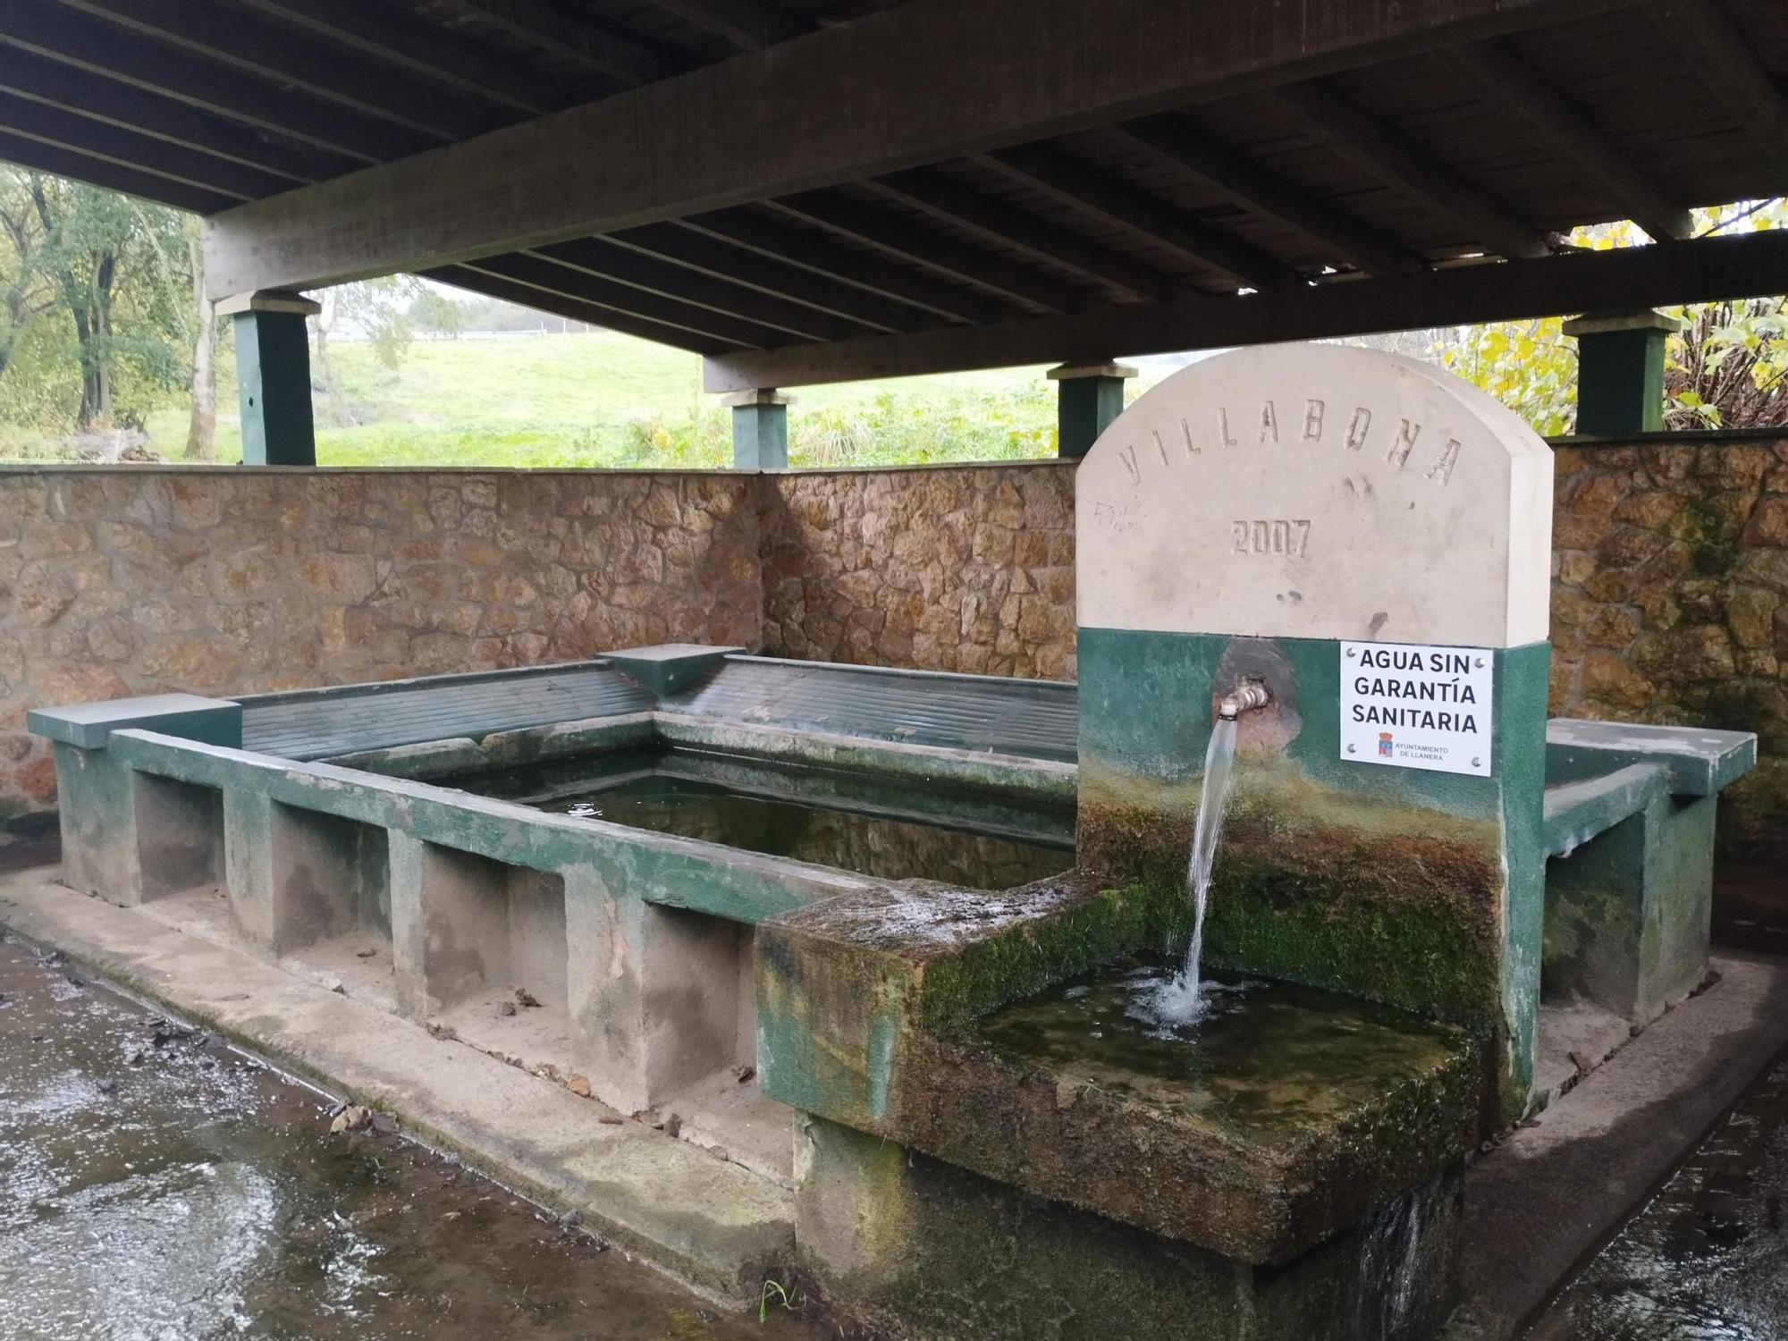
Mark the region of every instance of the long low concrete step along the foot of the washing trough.
[[792, 1196], [771, 1178], [311, 978], [75, 894], [57, 874], [0, 874], [0, 924], [395, 1114], [712, 1298], [755, 1298], [763, 1271], [790, 1259]]

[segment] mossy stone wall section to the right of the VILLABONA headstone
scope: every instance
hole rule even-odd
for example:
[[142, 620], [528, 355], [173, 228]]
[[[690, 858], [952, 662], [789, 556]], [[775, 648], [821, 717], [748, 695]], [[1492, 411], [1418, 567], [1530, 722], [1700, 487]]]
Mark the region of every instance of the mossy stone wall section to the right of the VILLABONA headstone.
[[1727, 851], [1788, 858], [1788, 440], [1561, 445], [1552, 713], [1756, 731]]

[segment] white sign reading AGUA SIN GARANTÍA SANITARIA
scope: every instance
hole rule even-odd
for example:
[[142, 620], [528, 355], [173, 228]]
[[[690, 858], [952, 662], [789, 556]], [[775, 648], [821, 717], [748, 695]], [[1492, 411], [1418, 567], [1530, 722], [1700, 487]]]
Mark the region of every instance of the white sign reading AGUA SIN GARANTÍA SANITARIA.
[[1489, 776], [1493, 656], [1484, 647], [1341, 644], [1341, 758]]

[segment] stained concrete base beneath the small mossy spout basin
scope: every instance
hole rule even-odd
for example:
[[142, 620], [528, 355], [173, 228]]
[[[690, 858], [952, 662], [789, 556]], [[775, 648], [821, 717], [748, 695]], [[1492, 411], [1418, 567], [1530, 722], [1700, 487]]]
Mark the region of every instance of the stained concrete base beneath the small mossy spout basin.
[[912, 1341], [1416, 1341], [1452, 1302], [1459, 1175], [1284, 1266], [1250, 1266], [806, 1119], [803, 1266]]

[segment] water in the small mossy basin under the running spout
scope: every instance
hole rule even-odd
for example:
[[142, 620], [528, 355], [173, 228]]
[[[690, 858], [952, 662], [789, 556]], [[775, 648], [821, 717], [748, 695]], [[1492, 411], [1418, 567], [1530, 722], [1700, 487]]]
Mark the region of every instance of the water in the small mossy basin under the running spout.
[[1125, 966], [989, 1016], [980, 1037], [1026, 1069], [1277, 1143], [1343, 1125], [1402, 1084], [1429, 1084], [1468, 1035], [1391, 1007], [1269, 978], [1209, 974], [1205, 1010], [1164, 1025], [1151, 999], [1180, 966]]

